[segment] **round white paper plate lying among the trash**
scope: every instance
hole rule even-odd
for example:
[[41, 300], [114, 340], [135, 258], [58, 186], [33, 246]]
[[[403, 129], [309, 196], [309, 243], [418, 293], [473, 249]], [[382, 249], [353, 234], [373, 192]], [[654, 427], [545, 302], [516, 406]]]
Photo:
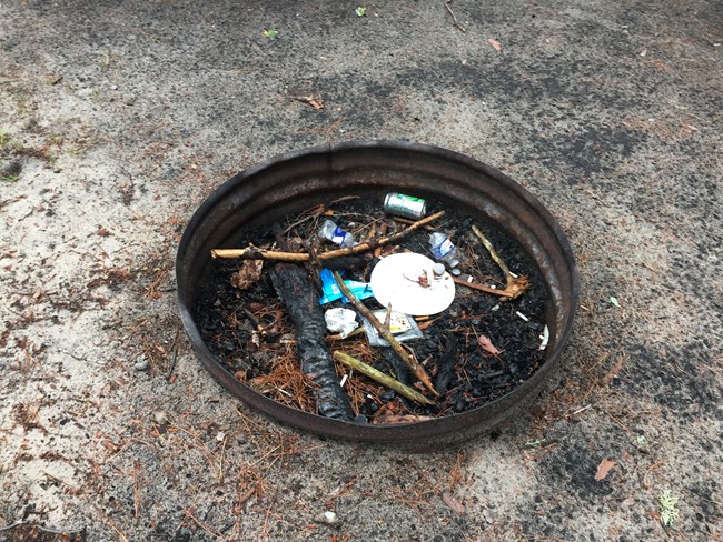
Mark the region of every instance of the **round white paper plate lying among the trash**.
[[[415, 317], [436, 314], [455, 298], [455, 284], [445, 273], [434, 279], [433, 260], [423, 254], [403, 252], [384, 258], [372, 271], [372, 291], [383, 305]], [[424, 285], [424, 278], [428, 278]]]

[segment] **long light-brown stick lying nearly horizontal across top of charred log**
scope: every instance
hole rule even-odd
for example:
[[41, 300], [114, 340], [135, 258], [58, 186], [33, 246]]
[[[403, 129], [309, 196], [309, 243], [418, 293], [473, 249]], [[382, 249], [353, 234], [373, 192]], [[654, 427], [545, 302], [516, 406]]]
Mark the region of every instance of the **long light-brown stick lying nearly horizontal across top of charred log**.
[[[346, 249], [336, 249], [336, 250], [329, 250], [328, 252], [323, 252], [320, 254], [317, 254], [317, 260], [324, 261], [324, 260], [331, 260], [333, 258], [340, 258], [340, 257], [351, 255], [351, 254], [360, 254], [363, 252], [374, 250], [377, 247], [394, 243], [399, 239], [408, 235], [414, 230], [418, 228], [423, 228], [429, 222], [434, 222], [438, 218], [444, 217], [444, 213], [445, 213], [444, 211], [439, 211], [438, 213], [430, 214], [427, 218], [416, 221], [415, 223], [409, 225], [409, 228], [407, 228], [406, 230], [402, 230], [400, 232], [394, 233], [388, 237], [382, 237], [374, 241], [366, 241], [364, 243], [359, 243], [354, 247], [347, 247]], [[244, 258], [246, 260], [278, 260], [278, 261], [286, 261], [286, 262], [307, 262], [310, 260], [309, 254], [305, 252], [298, 252], [298, 253], [279, 252], [274, 250], [263, 250], [256, 247], [249, 247], [247, 249], [212, 249], [211, 258]]]

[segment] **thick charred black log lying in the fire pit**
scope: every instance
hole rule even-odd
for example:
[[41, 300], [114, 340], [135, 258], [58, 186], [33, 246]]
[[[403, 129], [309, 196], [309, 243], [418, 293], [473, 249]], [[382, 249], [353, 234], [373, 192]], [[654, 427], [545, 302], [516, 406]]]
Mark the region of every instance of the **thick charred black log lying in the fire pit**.
[[308, 273], [293, 263], [277, 263], [270, 274], [276, 293], [296, 325], [296, 352], [301, 370], [318, 385], [318, 413], [336, 420], [354, 420], [349, 397], [339, 385], [331, 352], [326, 345], [324, 312]]

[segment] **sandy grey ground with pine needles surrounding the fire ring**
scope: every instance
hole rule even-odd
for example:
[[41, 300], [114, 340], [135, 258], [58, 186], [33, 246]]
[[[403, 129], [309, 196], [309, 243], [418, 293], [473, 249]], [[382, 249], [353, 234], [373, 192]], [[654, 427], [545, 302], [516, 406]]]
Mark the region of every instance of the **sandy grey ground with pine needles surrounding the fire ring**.
[[[701, 0], [0, 0], [0, 539], [722, 540], [722, 41]], [[206, 195], [380, 138], [501, 169], [573, 244], [564, 374], [494, 439], [301, 434], [179, 333]]]

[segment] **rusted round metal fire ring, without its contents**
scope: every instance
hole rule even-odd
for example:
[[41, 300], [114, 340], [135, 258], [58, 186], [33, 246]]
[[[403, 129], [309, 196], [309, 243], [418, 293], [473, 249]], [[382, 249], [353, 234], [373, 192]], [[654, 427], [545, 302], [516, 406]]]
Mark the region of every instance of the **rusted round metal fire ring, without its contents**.
[[[247, 225], [270, 224], [340, 195], [386, 191], [444, 198], [494, 220], [537, 263], [548, 295], [549, 344], [545, 363], [508, 394], [479, 409], [405, 424], [356, 424], [280, 404], [228, 372], [201, 339], [192, 318], [197, 285], [210, 250], [232, 247]], [[350, 141], [315, 147], [260, 162], [221, 184], [196, 211], [176, 260], [180, 315], [204, 367], [229, 392], [283, 423], [317, 434], [400, 448], [439, 448], [486, 433], [521, 412], [562, 363], [577, 307], [580, 278], [572, 249], [553, 215], [524, 188], [463, 154], [403, 141]]]

